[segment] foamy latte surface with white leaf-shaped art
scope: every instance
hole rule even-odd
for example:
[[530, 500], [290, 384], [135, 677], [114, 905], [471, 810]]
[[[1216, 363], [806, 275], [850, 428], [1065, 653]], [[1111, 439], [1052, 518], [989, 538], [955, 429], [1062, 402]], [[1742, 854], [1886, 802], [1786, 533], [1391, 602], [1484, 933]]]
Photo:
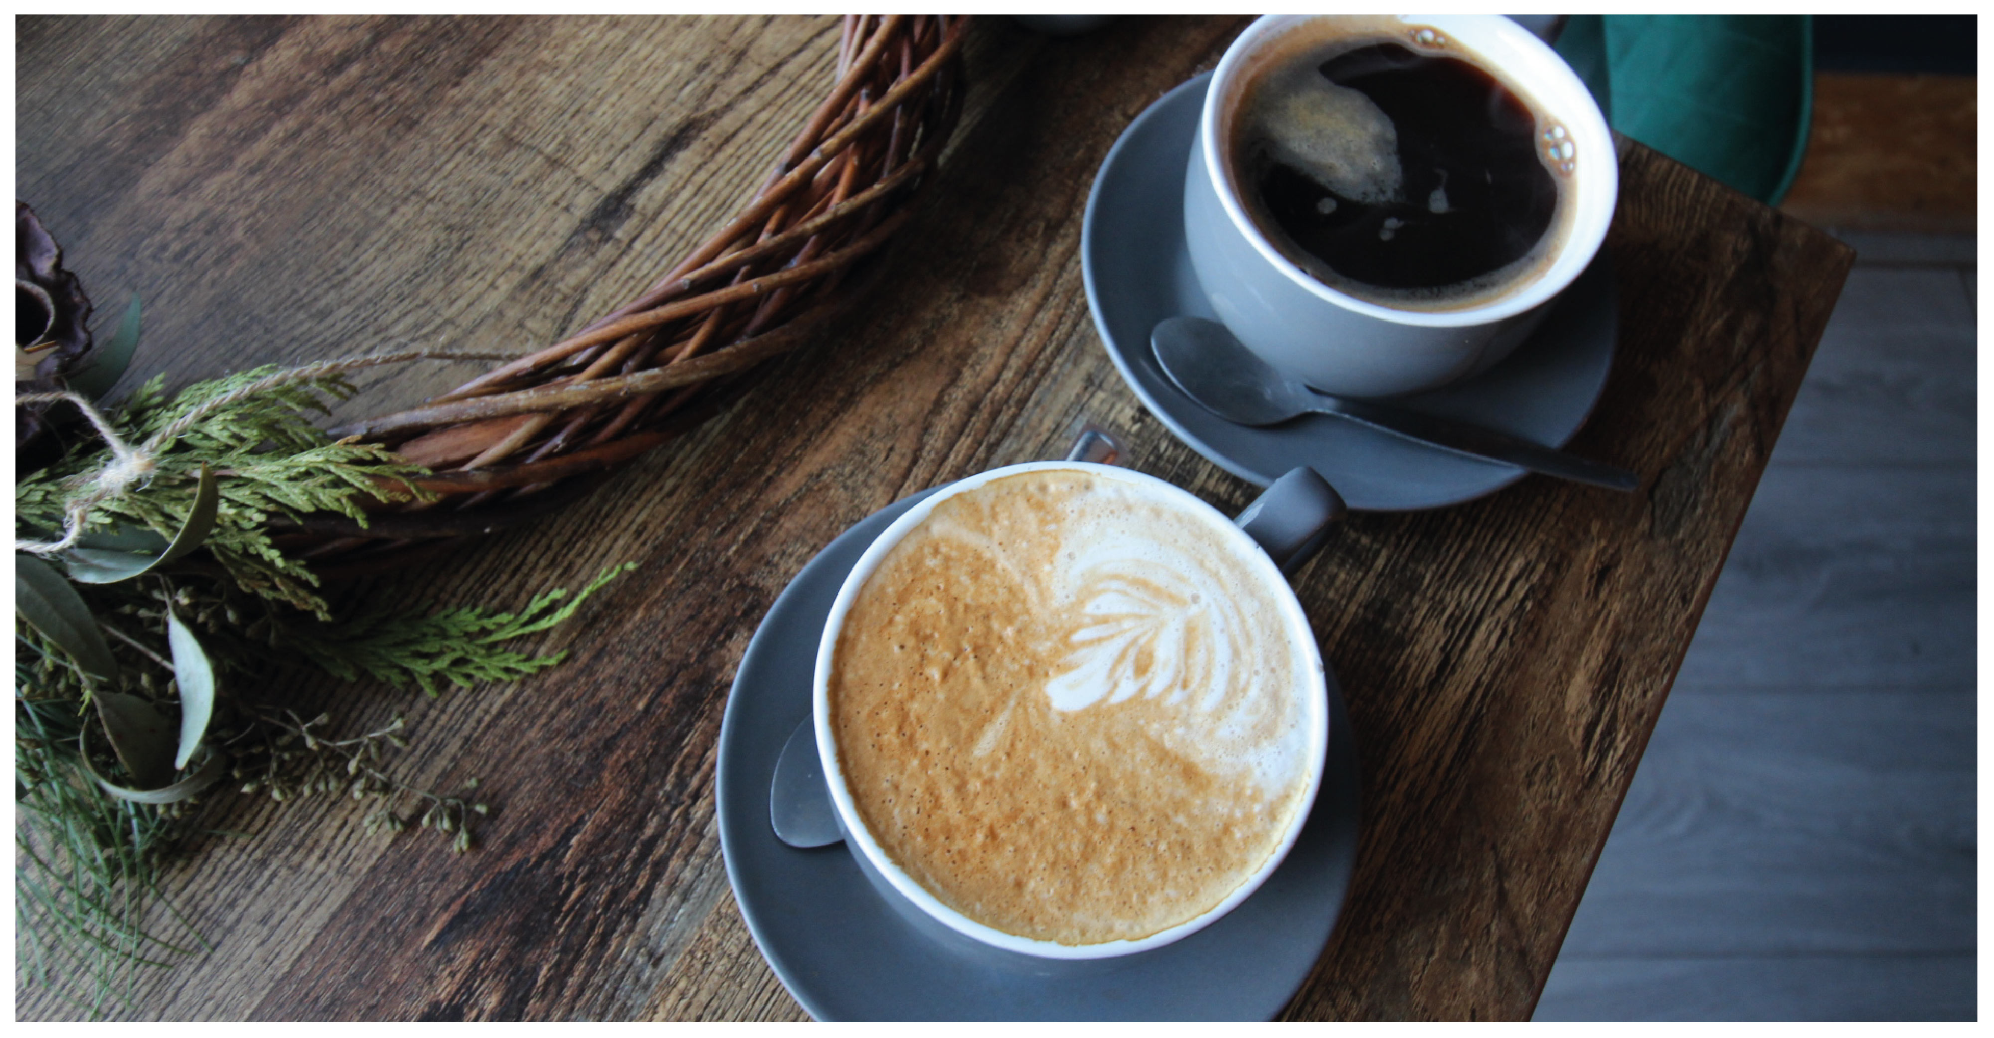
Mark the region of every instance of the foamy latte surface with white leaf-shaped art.
[[1063, 944], [1204, 914], [1306, 809], [1314, 661], [1210, 518], [1041, 470], [943, 500], [857, 592], [830, 711], [887, 857]]

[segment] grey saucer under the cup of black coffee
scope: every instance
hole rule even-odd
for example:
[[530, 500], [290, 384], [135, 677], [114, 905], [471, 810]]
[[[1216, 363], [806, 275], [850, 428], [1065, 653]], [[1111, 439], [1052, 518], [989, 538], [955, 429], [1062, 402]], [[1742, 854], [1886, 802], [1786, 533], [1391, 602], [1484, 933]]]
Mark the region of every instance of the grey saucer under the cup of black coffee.
[[[1270, 428], [1232, 424], [1163, 375], [1149, 347], [1151, 329], [1176, 315], [1216, 319], [1184, 251], [1184, 163], [1208, 80], [1210, 74], [1198, 76], [1149, 106], [1115, 141], [1087, 197], [1081, 231], [1087, 305], [1129, 389], [1176, 438], [1226, 472], [1266, 486], [1306, 464], [1358, 510], [1460, 504], [1523, 478], [1519, 468], [1322, 414]], [[1613, 273], [1601, 253], [1543, 327], [1503, 363], [1398, 402], [1563, 446], [1605, 389], [1615, 329]]]

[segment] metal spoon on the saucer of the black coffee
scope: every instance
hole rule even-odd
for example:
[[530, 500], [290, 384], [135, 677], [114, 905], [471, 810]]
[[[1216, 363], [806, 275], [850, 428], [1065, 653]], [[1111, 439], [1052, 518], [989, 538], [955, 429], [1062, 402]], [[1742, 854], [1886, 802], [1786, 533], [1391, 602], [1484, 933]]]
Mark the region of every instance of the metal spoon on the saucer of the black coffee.
[[1336, 414], [1440, 450], [1513, 464], [1545, 476], [1613, 490], [1641, 486], [1641, 476], [1625, 468], [1573, 458], [1507, 432], [1434, 418], [1376, 400], [1348, 400], [1318, 392], [1268, 367], [1216, 321], [1172, 317], [1157, 325], [1149, 343], [1157, 351], [1163, 373], [1176, 383], [1176, 389], [1228, 422], [1258, 426], [1310, 412]]

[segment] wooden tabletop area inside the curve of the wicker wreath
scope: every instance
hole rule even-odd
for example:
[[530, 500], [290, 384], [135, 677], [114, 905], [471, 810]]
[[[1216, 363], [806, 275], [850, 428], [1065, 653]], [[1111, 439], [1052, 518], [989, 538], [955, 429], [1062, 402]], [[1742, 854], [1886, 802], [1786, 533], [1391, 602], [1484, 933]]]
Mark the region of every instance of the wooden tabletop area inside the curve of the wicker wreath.
[[[36, 153], [18, 189], [100, 295], [162, 303], [136, 373], [189, 381], [389, 345], [554, 341], [734, 211], [828, 90], [837, 44], [835, 18], [96, 28], [54, 32], [76, 38], [24, 62], [20, 137]], [[56, 96], [104, 36], [130, 40], [114, 54], [132, 72]], [[162, 68], [138, 72], [148, 60]], [[112, 98], [138, 112], [98, 135], [60, 122]], [[377, 392], [341, 414], [483, 367], [371, 375]]]

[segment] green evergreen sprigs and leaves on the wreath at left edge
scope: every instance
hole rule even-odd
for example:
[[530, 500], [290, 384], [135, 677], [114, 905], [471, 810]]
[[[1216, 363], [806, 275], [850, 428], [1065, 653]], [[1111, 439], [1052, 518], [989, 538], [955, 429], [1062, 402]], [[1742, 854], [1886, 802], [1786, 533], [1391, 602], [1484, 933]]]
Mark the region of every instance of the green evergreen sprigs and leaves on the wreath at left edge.
[[[423, 490], [411, 480], [427, 474], [379, 444], [331, 442], [311, 424], [309, 414], [325, 412], [327, 398], [351, 392], [339, 375], [269, 367], [177, 394], [156, 379], [118, 412], [100, 414], [118, 438], [142, 444], [138, 478], [94, 492], [126, 458], [106, 440], [90, 440], [14, 486], [16, 538], [44, 542], [32, 548], [44, 554], [78, 508], [84, 534], [130, 544], [136, 532], [150, 530], [173, 542], [195, 516], [203, 466], [219, 498], [201, 544], [213, 562], [164, 556], [128, 580], [72, 578], [70, 588], [106, 636], [116, 677], [86, 673], [54, 632], [38, 630], [26, 610], [16, 614], [20, 976], [64, 990], [92, 1014], [124, 998], [134, 966], [167, 964], [199, 942], [177, 914], [187, 938], [167, 942], [148, 905], [160, 901], [160, 869], [195, 833], [203, 797], [233, 791], [277, 801], [307, 793], [373, 799], [369, 833], [427, 827], [457, 851], [475, 843], [473, 825], [487, 805], [383, 771], [387, 749], [407, 745], [401, 715], [385, 729], [337, 737], [327, 733], [331, 715], [303, 721], [285, 703], [241, 689], [285, 687], [277, 677], [299, 663], [345, 681], [373, 677], [429, 695], [443, 685], [524, 677], [564, 653], [534, 655], [510, 646], [572, 618], [588, 596], [632, 568], [612, 566], [574, 596], [538, 594], [516, 614], [361, 604], [335, 620], [319, 596], [319, 578], [275, 546], [267, 524], [335, 512], [365, 526], [369, 498], [419, 498]], [[60, 566], [70, 556], [60, 552], [48, 562]], [[20, 570], [16, 562], [16, 604]], [[179, 622], [191, 642], [187, 634], [167, 638], [169, 622]], [[116, 711], [92, 703], [138, 703], [158, 713], [162, 727], [177, 723], [179, 685], [195, 673], [187, 667], [197, 667], [199, 683], [219, 689], [213, 703], [203, 703], [213, 717], [193, 733], [199, 745], [187, 743], [181, 729], [183, 767], [173, 781], [144, 789], [126, 765]], [[413, 807], [403, 813], [399, 801]]]

